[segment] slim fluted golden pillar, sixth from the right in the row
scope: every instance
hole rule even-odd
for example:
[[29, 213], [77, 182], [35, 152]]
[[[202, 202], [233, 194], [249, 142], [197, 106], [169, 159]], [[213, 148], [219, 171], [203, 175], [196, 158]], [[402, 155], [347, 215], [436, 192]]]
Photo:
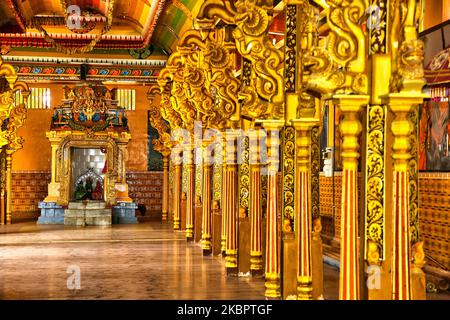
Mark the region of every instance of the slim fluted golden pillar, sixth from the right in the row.
[[238, 274], [238, 201], [237, 201], [237, 153], [238, 134], [226, 134], [225, 214], [226, 214], [226, 268], [228, 275]]

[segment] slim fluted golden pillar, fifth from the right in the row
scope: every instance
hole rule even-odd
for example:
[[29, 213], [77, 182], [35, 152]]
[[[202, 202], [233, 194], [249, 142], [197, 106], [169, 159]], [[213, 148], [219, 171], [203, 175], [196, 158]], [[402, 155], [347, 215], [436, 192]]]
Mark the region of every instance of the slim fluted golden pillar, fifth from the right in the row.
[[[250, 272], [252, 276], [263, 274], [262, 259], [262, 206], [261, 206], [261, 163], [258, 132], [252, 131], [249, 136], [250, 163]], [[256, 146], [256, 149], [254, 148]]]

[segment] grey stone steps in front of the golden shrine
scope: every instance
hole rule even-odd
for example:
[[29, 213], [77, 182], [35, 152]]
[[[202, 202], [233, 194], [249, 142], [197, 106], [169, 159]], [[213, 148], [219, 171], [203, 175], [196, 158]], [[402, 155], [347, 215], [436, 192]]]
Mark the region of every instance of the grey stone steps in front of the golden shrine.
[[64, 210], [64, 224], [69, 226], [109, 226], [112, 210], [103, 201], [70, 202]]

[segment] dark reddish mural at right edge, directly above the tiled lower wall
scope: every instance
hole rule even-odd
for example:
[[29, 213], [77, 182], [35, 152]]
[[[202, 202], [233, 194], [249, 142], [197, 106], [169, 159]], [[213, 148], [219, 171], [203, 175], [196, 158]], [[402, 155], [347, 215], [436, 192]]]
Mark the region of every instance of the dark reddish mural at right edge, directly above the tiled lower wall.
[[426, 101], [419, 111], [419, 170], [450, 171], [448, 101]]

